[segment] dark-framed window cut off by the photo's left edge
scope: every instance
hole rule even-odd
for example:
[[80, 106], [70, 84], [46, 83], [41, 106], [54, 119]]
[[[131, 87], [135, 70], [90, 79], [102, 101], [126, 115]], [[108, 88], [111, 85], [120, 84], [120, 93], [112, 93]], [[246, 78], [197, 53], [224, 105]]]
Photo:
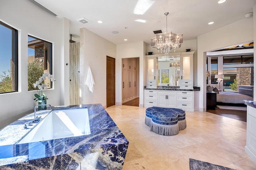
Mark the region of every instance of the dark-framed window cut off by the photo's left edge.
[[0, 93], [18, 91], [18, 31], [0, 21]]

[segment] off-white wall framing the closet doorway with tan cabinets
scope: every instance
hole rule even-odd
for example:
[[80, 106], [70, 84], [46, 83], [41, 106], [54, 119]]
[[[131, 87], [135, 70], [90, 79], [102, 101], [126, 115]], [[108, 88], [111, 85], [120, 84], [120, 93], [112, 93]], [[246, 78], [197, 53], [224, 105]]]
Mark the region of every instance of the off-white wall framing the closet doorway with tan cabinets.
[[139, 68], [140, 68], [140, 86], [139, 86], [139, 97], [140, 104], [143, 106], [143, 92], [144, 86], [144, 53], [145, 53], [145, 43], [143, 41], [118, 44], [116, 46], [116, 105], [122, 105], [122, 59], [123, 58], [135, 58], [139, 57]]

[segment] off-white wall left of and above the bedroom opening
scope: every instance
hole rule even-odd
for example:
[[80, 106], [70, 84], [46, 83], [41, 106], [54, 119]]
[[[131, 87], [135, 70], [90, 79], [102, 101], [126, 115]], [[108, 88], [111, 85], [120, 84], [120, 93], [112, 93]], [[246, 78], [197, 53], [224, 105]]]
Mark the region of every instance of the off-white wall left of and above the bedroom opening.
[[252, 41], [253, 36], [253, 18], [245, 18], [243, 20], [231, 23], [230, 25], [226, 25], [209, 33], [198, 36], [197, 84], [200, 87], [200, 111], [206, 110], [206, 51], [212, 51], [215, 49]]

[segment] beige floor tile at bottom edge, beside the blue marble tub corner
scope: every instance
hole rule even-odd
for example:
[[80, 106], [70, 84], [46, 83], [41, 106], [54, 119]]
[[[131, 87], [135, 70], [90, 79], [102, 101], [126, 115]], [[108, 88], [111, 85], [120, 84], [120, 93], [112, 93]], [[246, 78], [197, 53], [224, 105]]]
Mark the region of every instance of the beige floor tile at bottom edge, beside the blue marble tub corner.
[[154, 169], [150, 166], [150, 164], [148, 164], [145, 158], [140, 158], [136, 160], [125, 161], [122, 170], [154, 170]]

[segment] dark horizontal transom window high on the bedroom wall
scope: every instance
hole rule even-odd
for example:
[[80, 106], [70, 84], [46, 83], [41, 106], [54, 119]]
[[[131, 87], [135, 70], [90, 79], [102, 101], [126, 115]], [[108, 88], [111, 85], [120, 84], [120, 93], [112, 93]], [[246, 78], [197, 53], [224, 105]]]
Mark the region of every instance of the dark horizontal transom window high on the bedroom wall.
[[253, 63], [253, 55], [223, 56], [223, 64], [250, 64]]

